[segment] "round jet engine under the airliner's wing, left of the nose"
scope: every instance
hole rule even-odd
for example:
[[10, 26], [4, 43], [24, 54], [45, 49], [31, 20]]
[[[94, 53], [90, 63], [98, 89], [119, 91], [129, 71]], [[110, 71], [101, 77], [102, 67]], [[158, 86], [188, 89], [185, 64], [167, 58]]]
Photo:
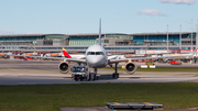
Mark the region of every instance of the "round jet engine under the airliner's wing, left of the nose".
[[62, 62], [58, 65], [58, 69], [62, 74], [67, 74], [70, 69], [70, 65], [67, 62]]

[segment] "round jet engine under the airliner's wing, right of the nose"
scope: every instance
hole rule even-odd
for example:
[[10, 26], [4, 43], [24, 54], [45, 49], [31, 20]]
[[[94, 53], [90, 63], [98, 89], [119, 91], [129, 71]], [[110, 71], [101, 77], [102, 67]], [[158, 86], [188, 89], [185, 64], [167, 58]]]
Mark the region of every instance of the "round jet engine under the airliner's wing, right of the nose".
[[132, 75], [132, 74], [135, 73], [135, 70], [136, 70], [135, 64], [133, 64], [133, 63], [131, 63], [131, 62], [128, 62], [128, 63], [125, 64], [125, 71], [127, 71], [128, 74]]

